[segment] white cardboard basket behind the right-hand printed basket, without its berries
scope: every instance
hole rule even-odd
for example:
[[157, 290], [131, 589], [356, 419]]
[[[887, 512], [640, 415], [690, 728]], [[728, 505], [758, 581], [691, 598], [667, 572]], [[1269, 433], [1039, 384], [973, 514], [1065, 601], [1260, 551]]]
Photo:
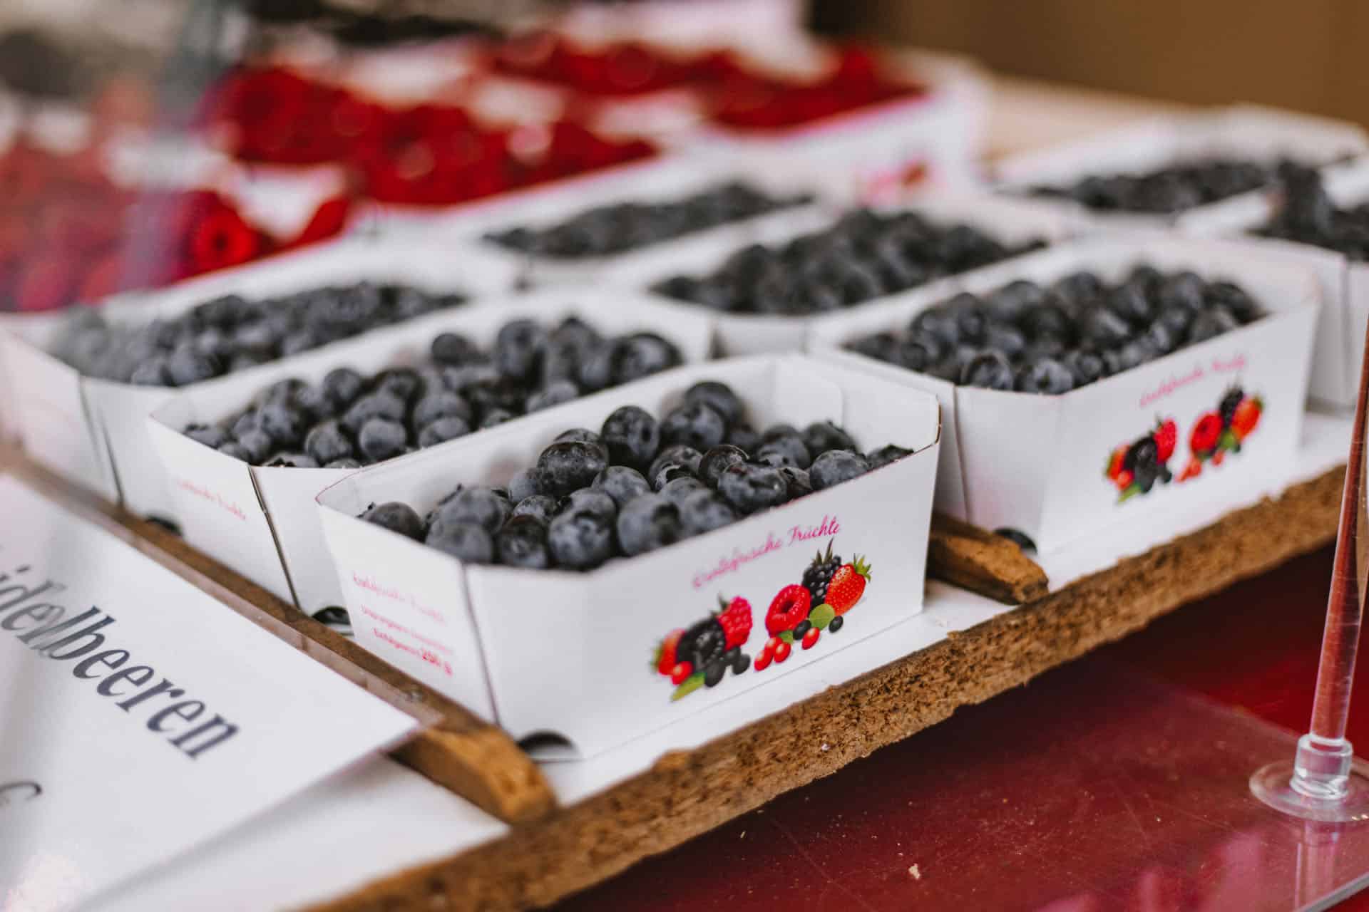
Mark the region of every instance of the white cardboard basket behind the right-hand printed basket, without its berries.
[[[1043, 212], [1014, 200], [1002, 200], [972, 191], [928, 193], [897, 208], [917, 212], [939, 224], [969, 224], [1003, 243], [1024, 243], [1032, 238], [1055, 243], [1069, 237], [1071, 231], [1069, 220], [1057, 213]], [[893, 211], [893, 208], [883, 208], [883, 211]], [[686, 238], [615, 257], [613, 263], [600, 273], [600, 280], [628, 289], [650, 290], [652, 286], [671, 276], [711, 273], [745, 246], [753, 243], [782, 246], [801, 235], [823, 231], [835, 224], [839, 217], [841, 213], [835, 211], [794, 212], [789, 217], [783, 212], [776, 213], [758, 219], [754, 226], [745, 230], [719, 231], [694, 239]], [[1025, 256], [1035, 256], [1035, 253]], [[993, 263], [975, 269], [973, 273], [995, 275], [1010, 271], [1016, 258], [1019, 257]], [[908, 295], [935, 294], [936, 289], [953, 287], [954, 280], [954, 276], [934, 279], [906, 291], [852, 305], [847, 310], [864, 310], [902, 301]], [[698, 304], [675, 301], [660, 293], [653, 294], [661, 301], [671, 302], [672, 306], [708, 313], [713, 319], [717, 347], [724, 356], [797, 351], [804, 346], [809, 324], [817, 319], [815, 316], [720, 313]]]

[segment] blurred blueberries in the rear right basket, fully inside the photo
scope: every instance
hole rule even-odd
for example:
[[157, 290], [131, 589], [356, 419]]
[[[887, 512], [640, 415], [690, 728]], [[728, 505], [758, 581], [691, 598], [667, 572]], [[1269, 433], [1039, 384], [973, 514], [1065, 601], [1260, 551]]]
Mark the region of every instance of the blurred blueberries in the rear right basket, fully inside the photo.
[[1032, 187], [1038, 197], [1064, 197], [1099, 212], [1169, 215], [1275, 182], [1275, 168], [1231, 157], [1179, 161], [1144, 174], [1091, 175], [1069, 186]]

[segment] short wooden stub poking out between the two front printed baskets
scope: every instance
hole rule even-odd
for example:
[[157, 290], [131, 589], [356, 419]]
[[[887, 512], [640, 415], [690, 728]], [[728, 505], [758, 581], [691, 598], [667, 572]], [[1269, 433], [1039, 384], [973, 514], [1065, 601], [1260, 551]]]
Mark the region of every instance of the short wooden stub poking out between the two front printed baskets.
[[932, 514], [927, 576], [1005, 604], [1035, 602], [1047, 592], [1046, 572], [1001, 535]]

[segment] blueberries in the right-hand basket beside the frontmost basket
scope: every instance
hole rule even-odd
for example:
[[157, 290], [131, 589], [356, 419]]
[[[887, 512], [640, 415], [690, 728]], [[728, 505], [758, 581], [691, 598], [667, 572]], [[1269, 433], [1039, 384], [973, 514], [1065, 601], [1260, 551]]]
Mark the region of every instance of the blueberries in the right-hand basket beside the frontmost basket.
[[1232, 282], [1138, 265], [1117, 284], [1084, 271], [962, 293], [846, 347], [960, 386], [1058, 395], [1262, 314]]

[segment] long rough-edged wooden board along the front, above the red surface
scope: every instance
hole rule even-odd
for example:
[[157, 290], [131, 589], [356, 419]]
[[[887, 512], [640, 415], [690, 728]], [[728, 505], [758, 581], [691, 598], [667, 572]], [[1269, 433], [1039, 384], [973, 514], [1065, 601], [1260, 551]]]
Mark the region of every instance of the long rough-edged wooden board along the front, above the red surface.
[[1023, 685], [1187, 602], [1327, 544], [1343, 480], [1343, 469], [1331, 470], [697, 751], [667, 755], [646, 773], [501, 840], [316, 908], [490, 912], [550, 904], [935, 725], [960, 706]]

